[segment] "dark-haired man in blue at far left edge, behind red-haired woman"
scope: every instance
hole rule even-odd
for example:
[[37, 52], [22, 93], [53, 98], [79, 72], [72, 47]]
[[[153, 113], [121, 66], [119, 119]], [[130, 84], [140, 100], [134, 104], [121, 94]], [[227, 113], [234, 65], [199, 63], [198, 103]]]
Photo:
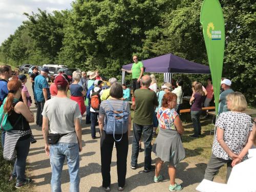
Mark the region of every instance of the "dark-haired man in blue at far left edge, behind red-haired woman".
[[[8, 79], [12, 76], [12, 69], [8, 65], [0, 66], [0, 106], [7, 97], [9, 91], [7, 89]], [[2, 131], [2, 147], [5, 143], [5, 131]]]

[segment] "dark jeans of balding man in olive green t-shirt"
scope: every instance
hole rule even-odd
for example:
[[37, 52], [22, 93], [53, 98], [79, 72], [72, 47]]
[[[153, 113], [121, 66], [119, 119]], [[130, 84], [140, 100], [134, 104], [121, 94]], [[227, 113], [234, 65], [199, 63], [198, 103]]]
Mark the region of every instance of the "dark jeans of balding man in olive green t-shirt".
[[131, 165], [136, 166], [139, 155], [139, 141], [143, 133], [143, 143], [145, 147], [144, 151], [144, 167], [149, 168], [151, 166], [151, 151], [152, 151], [152, 125], [138, 125], [133, 123], [133, 146], [132, 146], [132, 161]]

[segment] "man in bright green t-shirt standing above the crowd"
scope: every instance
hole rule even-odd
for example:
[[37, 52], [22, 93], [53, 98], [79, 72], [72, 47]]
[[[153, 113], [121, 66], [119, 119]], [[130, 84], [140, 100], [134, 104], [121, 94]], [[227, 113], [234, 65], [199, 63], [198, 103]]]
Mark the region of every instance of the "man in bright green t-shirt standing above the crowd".
[[141, 61], [138, 61], [137, 55], [133, 56], [133, 66], [132, 70], [123, 70], [127, 73], [132, 73], [132, 79], [133, 79], [133, 92], [136, 89], [140, 89], [140, 79], [143, 76], [144, 68], [143, 68], [143, 63]]

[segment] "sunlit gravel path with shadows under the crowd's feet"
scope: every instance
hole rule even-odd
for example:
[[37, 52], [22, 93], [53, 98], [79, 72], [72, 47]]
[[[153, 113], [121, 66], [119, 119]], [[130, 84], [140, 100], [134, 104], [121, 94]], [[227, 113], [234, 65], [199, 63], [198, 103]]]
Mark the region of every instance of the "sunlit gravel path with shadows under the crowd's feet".
[[[31, 83], [27, 82], [27, 87], [32, 95]], [[36, 108], [34, 105], [31, 110], [36, 116]], [[98, 127], [96, 127], [98, 128]], [[41, 127], [35, 123], [31, 124], [32, 132], [37, 140], [36, 143], [30, 145], [30, 153], [28, 156], [29, 175], [33, 179], [34, 191], [50, 191], [51, 166], [49, 157], [44, 151], [44, 139], [41, 133]], [[97, 129], [98, 131], [98, 129]], [[97, 132], [98, 134], [98, 132]], [[99, 136], [99, 135], [97, 135]], [[101, 165], [100, 165], [100, 139], [91, 139], [90, 125], [85, 124], [85, 118], [82, 119], [82, 140], [83, 150], [80, 153], [80, 191], [103, 191], [101, 188]], [[143, 148], [143, 144], [142, 144]], [[127, 174], [126, 187], [124, 191], [168, 191], [169, 179], [167, 172], [167, 164], [164, 163], [162, 175], [164, 181], [159, 183], [153, 182], [154, 172], [143, 172], [144, 153], [139, 154], [138, 167], [136, 170], [130, 168], [132, 154], [132, 136], [129, 138], [129, 153], [127, 158]], [[155, 163], [156, 156], [152, 153], [152, 160]], [[117, 172], [116, 172], [116, 150], [113, 149], [111, 164], [111, 188], [117, 191]], [[186, 159], [177, 166], [177, 183], [182, 183], [184, 189], [182, 191], [196, 191], [195, 188], [202, 181], [205, 162], [191, 163]], [[223, 182], [219, 177], [217, 181]], [[61, 177], [62, 191], [69, 191], [69, 173], [67, 163], [63, 166]]]

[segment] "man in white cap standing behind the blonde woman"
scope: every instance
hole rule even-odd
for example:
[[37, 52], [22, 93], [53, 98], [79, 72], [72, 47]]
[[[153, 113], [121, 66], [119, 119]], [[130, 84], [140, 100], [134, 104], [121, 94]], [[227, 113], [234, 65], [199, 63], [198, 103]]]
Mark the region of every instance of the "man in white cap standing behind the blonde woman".
[[221, 81], [221, 88], [224, 90], [223, 92], [221, 92], [220, 94], [220, 100], [219, 100], [219, 115], [222, 113], [222, 112], [227, 112], [229, 111], [227, 109], [227, 104], [226, 104], [226, 96], [229, 94], [229, 93], [233, 93], [234, 91], [230, 88], [231, 86], [231, 81], [229, 79], [223, 79]]

